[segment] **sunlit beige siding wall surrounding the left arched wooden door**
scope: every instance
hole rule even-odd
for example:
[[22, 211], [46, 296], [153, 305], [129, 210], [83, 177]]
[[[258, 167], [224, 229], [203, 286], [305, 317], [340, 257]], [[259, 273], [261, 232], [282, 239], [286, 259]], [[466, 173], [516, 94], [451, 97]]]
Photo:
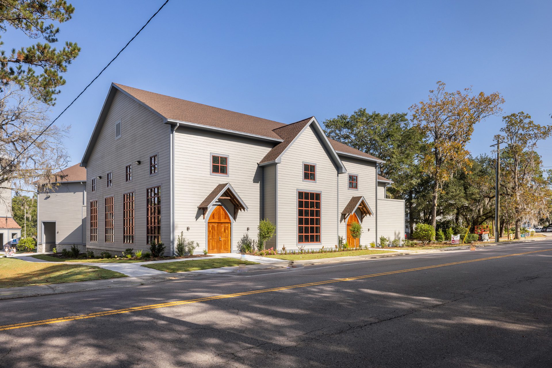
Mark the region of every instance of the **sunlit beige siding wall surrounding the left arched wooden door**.
[[[204, 219], [198, 205], [216, 185], [230, 183], [248, 207], [248, 211], [238, 212], [232, 222], [231, 251], [236, 252], [238, 241], [246, 233], [257, 239], [263, 175], [257, 162], [273, 147], [273, 143], [181, 127], [176, 131], [174, 147], [176, 236], [183, 232], [187, 240], [198, 242], [198, 253], [206, 249], [209, 214]], [[228, 156], [228, 176], [211, 175], [211, 153]], [[222, 202], [233, 218], [229, 201]]]

